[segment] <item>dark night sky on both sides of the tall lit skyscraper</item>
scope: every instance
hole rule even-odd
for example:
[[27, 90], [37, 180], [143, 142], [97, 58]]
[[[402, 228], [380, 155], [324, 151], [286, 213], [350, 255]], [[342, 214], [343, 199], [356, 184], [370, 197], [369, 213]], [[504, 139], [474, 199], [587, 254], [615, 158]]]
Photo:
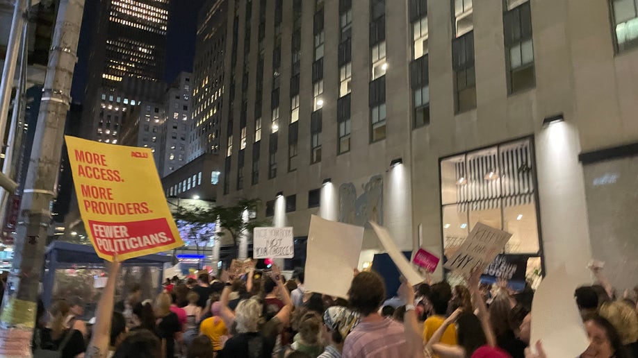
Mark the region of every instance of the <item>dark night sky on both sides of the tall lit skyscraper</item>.
[[[172, 0], [168, 15], [166, 44], [166, 67], [164, 80], [172, 82], [181, 71], [193, 71], [195, 56], [195, 35], [197, 33], [197, 13], [205, 0]], [[95, 21], [97, 1], [86, 1], [80, 41], [78, 44], [78, 63], [75, 67], [71, 96], [73, 101], [81, 103], [84, 99], [84, 87], [87, 78], [87, 62], [91, 44], [91, 25]]]

